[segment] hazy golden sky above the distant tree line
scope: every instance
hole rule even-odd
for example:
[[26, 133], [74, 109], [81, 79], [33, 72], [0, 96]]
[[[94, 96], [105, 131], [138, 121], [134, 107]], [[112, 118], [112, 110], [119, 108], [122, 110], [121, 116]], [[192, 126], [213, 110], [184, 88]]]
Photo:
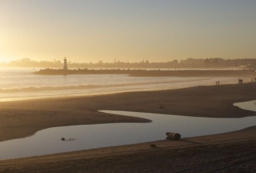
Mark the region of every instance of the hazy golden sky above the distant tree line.
[[255, 0], [0, 0], [0, 61], [256, 58]]

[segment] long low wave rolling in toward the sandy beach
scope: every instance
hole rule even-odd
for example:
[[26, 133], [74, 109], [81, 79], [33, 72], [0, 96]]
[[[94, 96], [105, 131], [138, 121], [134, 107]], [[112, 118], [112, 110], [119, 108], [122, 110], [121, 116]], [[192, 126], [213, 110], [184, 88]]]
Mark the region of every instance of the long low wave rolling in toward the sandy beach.
[[108, 87], [122, 87], [122, 86], [133, 86], [133, 85], [150, 85], [150, 84], [161, 84], [161, 83], [178, 83], [178, 82], [193, 82], [201, 80], [209, 80], [211, 78], [198, 78], [198, 79], [186, 79], [186, 80], [172, 80], [172, 81], [155, 81], [155, 82], [137, 82], [137, 83], [123, 83], [123, 84], [108, 84], [108, 85], [97, 85], [97, 84], [85, 84], [85, 85], [70, 85], [70, 86], [44, 86], [36, 87], [29, 86], [26, 88], [11, 88], [11, 89], [0, 89], [0, 93], [16, 93], [16, 92], [40, 92], [40, 91], [60, 91], [60, 90], [86, 90], [95, 88], [108, 88]]

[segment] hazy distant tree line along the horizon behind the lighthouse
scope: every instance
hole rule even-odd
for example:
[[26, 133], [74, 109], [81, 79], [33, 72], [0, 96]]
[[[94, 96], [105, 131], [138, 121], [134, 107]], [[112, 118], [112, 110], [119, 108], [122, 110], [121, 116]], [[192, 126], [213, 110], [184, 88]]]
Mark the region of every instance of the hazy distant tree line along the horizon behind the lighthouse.
[[[29, 58], [23, 58], [9, 63], [0, 63], [0, 66], [9, 67], [42, 67], [42, 68], [63, 68], [63, 62], [60, 60], [54, 61], [34, 61]], [[222, 59], [222, 58], [207, 58], [207, 59], [192, 59], [173, 60], [167, 62], [149, 62], [143, 60], [141, 62], [103, 62], [96, 63], [78, 63], [68, 61], [69, 68], [224, 68], [224, 67], [242, 67], [256, 68], [256, 59]]]

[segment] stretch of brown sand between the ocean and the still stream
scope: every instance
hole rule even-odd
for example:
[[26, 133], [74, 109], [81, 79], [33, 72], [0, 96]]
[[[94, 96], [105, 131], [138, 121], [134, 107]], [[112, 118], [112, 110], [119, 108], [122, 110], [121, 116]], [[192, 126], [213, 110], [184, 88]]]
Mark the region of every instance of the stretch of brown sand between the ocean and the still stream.
[[[148, 119], [98, 110], [161, 113], [197, 117], [245, 117], [254, 112], [233, 106], [256, 99], [256, 82], [194, 86], [176, 90], [125, 92], [0, 102], [0, 142], [60, 126], [102, 123], [147, 123]], [[203, 93], [203, 94], [202, 94]]]

